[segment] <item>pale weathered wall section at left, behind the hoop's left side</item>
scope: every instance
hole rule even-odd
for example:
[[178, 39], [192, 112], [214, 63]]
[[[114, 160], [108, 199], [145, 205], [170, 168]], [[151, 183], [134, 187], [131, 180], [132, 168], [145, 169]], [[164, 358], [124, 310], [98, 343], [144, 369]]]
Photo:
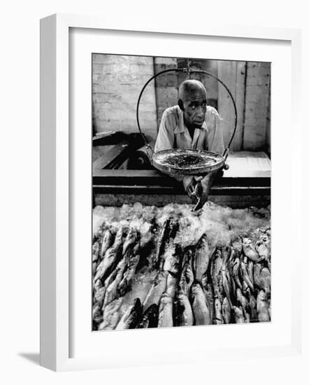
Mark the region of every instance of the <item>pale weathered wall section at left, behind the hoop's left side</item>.
[[[136, 104], [141, 88], [153, 76], [152, 57], [92, 55], [92, 120], [94, 134], [137, 132]], [[146, 88], [139, 109], [143, 131], [156, 136], [155, 85]]]

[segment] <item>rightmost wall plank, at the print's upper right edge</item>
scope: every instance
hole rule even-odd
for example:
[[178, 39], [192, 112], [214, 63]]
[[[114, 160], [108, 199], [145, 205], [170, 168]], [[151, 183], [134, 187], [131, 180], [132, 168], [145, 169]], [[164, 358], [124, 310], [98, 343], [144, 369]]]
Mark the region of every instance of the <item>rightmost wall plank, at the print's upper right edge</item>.
[[270, 71], [270, 63], [247, 63], [243, 133], [243, 149], [247, 151], [267, 151]]

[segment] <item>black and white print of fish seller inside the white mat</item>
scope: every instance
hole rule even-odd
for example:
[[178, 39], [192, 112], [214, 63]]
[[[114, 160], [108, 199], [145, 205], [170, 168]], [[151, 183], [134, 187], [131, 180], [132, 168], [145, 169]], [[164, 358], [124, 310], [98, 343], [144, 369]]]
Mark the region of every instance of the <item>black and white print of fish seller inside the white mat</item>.
[[91, 140], [92, 330], [270, 322], [271, 63], [92, 53]]

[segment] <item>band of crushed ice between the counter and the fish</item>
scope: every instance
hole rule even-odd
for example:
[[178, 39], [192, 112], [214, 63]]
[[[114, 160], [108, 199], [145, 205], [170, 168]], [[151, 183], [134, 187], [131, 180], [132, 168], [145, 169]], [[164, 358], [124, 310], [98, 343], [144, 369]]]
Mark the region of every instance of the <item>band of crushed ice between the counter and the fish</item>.
[[[155, 219], [161, 226], [166, 219], [176, 220], [179, 230], [175, 236], [175, 244], [181, 247], [194, 245], [206, 232], [210, 244], [227, 246], [231, 239], [250, 235], [258, 238], [261, 230], [270, 227], [268, 209], [231, 209], [208, 202], [199, 215], [191, 211], [189, 204], [167, 204], [164, 207], [143, 206], [136, 202], [122, 207], [95, 207], [93, 214], [95, 223], [105, 223], [114, 231], [124, 226], [134, 227], [141, 233], [141, 238], [150, 237], [151, 223]], [[157, 234], [155, 234], [157, 237]]]

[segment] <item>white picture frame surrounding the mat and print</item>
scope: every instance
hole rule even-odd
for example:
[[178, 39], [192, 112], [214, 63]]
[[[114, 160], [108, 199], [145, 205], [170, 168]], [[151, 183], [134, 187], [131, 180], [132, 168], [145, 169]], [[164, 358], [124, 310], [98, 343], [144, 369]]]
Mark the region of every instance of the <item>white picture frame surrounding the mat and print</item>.
[[[115, 25], [114, 22], [101, 18], [82, 15], [51, 15], [41, 20], [41, 365], [56, 371], [81, 370], [118, 366], [136, 365], [127, 360], [125, 354], [119, 360], [115, 356], [94, 356], [85, 352], [83, 356], [71, 357], [71, 306], [70, 306], [70, 236], [71, 220], [71, 165], [70, 165], [70, 123], [69, 123], [69, 31], [71, 28], [94, 30], [117, 30], [123, 35], [126, 31], [139, 33], [159, 33], [164, 37], [170, 34], [184, 36], [217, 36], [218, 38], [264, 39], [268, 41], [288, 41], [292, 47], [292, 113], [294, 116], [295, 146], [292, 147], [294, 162], [300, 163], [301, 151], [297, 148], [297, 138], [301, 137], [299, 120], [301, 69], [301, 31], [298, 29], [254, 28], [248, 26], [218, 27], [213, 25], [196, 26], [187, 31], [185, 27], [154, 27], [131, 25], [128, 20]], [[300, 142], [300, 141], [299, 141]], [[291, 219], [300, 226], [300, 196], [296, 186], [300, 186], [299, 173], [294, 176], [294, 188], [288, 193], [294, 197]], [[299, 235], [301, 231], [299, 231]], [[297, 237], [294, 240], [297, 242]], [[291, 266], [291, 300], [294, 314], [301, 314], [299, 292], [301, 281], [296, 274], [299, 268], [300, 254], [295, 253], [295, 263]], [[297, 256], [298, 255], [298, 256]], [[291, 311], [292, 314], [292, 311]], [[259, 346], [239, 348], [238, 353], [250, 351], [252, 356], [294, 355], [301, 351], [301, 318], [291, 320], [291, 341], [285, 346]], [[201, 330], [201, 329], [198, 329]], [[199, 333], [196, 330], [194, 334]], [[134, 332], [134, 331], [133, 331]], [[164, 330], [167, 335], [169, 330]], [[127, 333], [131, 333], [127, 332]], [[166, 334], [167, 333], [167, 334]], [[184, 333], [179, 330], [178, 333]], [[189, 333], [189, 331], [186, 331]], [[138, 344], [138, 342], [137, 342]], [[203, 348], [199, 346], [199, 351]], [[171, 352], [170, 352], [171, 353]], [[134, 353], [134, 357], [138, 356]], [[228, 357], [231, 349], [205, 350], [203, 357], [213, 359]], [[139, 364], [162, 364], [182, 362], [183, 352], [162, 355], [153, 360], [152, 356], [139, 353]]]

